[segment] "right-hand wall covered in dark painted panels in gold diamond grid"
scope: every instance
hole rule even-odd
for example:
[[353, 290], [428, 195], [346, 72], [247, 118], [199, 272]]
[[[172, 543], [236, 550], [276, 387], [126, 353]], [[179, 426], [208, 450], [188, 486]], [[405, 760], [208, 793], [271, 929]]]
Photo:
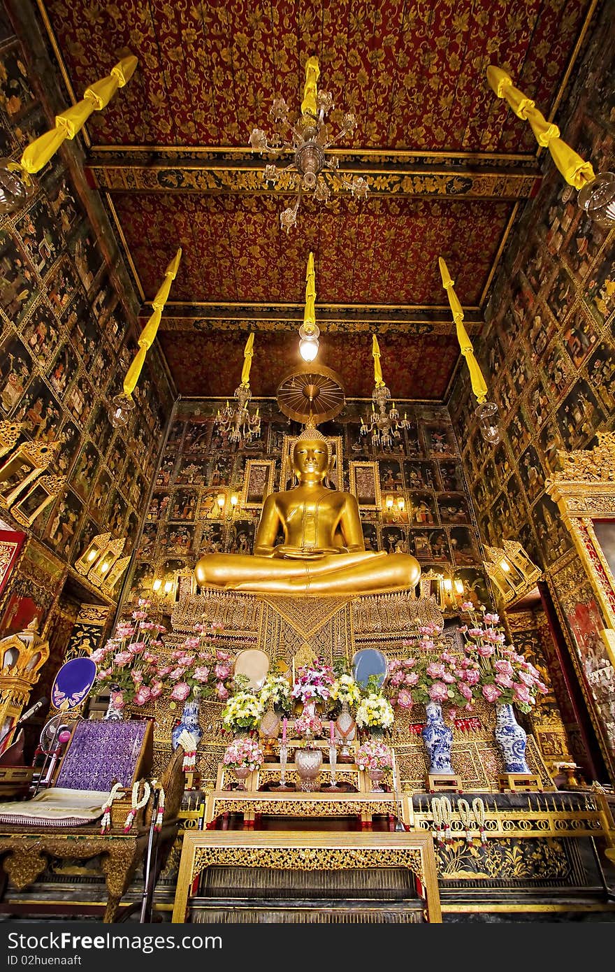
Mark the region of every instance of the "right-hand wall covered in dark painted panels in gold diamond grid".
[[[559, 119], [566, 141], [612, 168], [611, 30], [603, 17]], [[466, 370], [451, 401], [463, 468], [483, 537], [518, 537], [546, 572], [606, 761], [612, 759], [612, 666], [598, 605], [557, 503], [545, 492], [563, 450], [591, 448], [615, 428], [615, 230], [591, 224], [552, 165], [504, 254], [479, 359], [500, 409], [495, 449], [473, 431]], [[512, 473], [512, 474], [510, 474]], [[608, 540], [605, 540], [608, 545]], [[609, 688], [610, 686], [610, 688]]]

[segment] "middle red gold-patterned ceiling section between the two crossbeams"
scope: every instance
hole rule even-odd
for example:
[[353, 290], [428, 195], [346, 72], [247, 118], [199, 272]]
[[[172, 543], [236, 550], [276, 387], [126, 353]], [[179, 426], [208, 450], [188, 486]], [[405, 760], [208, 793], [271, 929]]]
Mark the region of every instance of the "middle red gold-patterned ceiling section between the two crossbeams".
[[278, 196], [134, 193], [115, 206], [146, 299], [181, 244], [172, 301], [300, 303], [312, 250], [320, 302], [393, 305], [446, 304], [438, 255], [461, 302], [478, 304], [512, 211], [494, 200], [342, 198], [306, 204], [287, 236]]

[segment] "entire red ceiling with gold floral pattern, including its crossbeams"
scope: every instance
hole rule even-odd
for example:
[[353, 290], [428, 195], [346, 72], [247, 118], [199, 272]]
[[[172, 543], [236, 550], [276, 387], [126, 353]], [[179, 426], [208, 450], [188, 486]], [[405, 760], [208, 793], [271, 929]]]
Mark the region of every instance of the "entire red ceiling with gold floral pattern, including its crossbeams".
[[[437, 258], [468, 326], [480, 322], [518, 205], [540, 178], [529, 126], [495, 98], [485, 69], [507, 68], [549, 115], [594, 0], [37, 2], [76, 99], [127, 50], [139, 58], [87, 122], [86, 166], [142, 301], [183, 248], [159, 332], [180, 394], [231, 395], [248, 326], [254, 393], [275, 392], [296, 358], [312, 250], [322, 360], [347, 395], [371, 393], [374, 330], [396, 398], [445, 396], [459, 347]], [[340, 168], [352, 163], [371, 191], [361, 202], [335, 193], [325, 209], [305, 200], [287, 235], [290, 197], [264, 189], [249, 136], [271, 131], [277, 93], [298, 109], [314, 53], [337, 106], [332, 134], [342, 112], [359, 119], [334, 140]]]

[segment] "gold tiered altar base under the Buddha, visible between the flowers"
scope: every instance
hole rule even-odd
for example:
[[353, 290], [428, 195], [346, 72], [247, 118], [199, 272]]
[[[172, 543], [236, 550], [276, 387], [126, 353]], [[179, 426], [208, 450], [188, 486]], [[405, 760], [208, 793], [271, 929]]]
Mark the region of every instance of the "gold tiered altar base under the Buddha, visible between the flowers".
[[[171, 622], [177, 642], [183, 641], [196, 623], [222, 625], [222, 633], [216, 637], [221, 647], [231, 653], [242, 648], [259, 648], [269, 656], [271, 665], [283, 661], [290, 666], [293, 659], [295, 664], [301, 664], [317, 655], [329, 664], [341, 658], [351, 661], [355, 651], [363, 647], [379, 648], [390, 659], [405, 657], [407, 648], [403, 642], [415, 631], [417, 618], [442, 622], [435, 598], [415, 598], [412, 591], [356, 598], [306, 598], [211, 589], [199, 596], [183, 598]], [[452, 637], [449, 641], [450, 650], [460, 650], [459, 646], [456, 649]], [[165, 642], [173, 642], [173, 636], [167, 636]], [[203, 787], [216, 786], [218, 765], [230, 741], [222, 727], [222, 708], [217, 702], [201, 702], [203, 738], [197, 752], [197, 770]], [[171, 729], [180, 711], [180, 707], [170, 710], [166, 701], [156, 704], [155, 741], [160, 763], [168, 759]], [[464, 790], [489, 791], [497, 788], [497, 776], [504, 769], [494, 739], [495, 709], [479, 701], [471, 714], [479, 718], [480, 727], [470, 731], [454, 728], [453, 765]], [[427, 754], [416, 731], [425, 718], [423, 706], [395, 715], [390, 742], [404, 790], [426, 788]], [[539, 778], [541, 787], [553, 789], [531, 736], [527, 758], [530, 771]]]

